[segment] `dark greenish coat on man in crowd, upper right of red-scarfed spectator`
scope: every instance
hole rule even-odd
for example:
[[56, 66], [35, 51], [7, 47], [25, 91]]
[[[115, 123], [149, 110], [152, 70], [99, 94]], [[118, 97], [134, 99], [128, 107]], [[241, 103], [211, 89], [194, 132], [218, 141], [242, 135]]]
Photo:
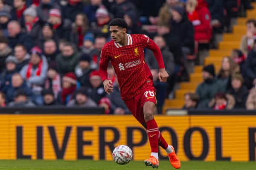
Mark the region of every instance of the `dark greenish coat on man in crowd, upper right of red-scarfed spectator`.
[[57, 65], [57, 71], [61, 75], [61, 77], [68, 73], [68, 72], [74, 72], [75, 67], [79, 62], [80, 54], [79, 52], [74, 52], [74, 54], [71, 57], [64, 57], [62, 54], [58, 54], [56, 57], [56, 65]]

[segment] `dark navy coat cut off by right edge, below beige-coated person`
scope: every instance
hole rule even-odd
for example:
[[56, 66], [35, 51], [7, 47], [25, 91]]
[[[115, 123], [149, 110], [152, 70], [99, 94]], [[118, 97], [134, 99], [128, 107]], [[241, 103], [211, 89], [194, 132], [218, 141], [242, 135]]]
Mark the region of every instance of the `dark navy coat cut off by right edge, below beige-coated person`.
[[256, 79], [256, 49], [251, 50], [245, 59], [244, 76], [252, 81]]

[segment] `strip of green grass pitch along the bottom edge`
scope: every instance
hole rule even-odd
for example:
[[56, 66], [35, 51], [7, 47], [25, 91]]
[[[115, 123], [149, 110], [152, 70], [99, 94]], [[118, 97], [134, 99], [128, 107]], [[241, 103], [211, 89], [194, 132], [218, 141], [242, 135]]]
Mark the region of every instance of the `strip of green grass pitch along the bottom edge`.
[[[131, 161], [119, 165], [113, 161], [44, 161], [44, 160], [0, 160], [0, 170], [152, 170], [143, 161]], [[169, 161], [160, 161], [158, 169], [175, 170]], [[229, 161], [187, 161], [182, 162], [180, 170], [256, 170], [256, 162]]]

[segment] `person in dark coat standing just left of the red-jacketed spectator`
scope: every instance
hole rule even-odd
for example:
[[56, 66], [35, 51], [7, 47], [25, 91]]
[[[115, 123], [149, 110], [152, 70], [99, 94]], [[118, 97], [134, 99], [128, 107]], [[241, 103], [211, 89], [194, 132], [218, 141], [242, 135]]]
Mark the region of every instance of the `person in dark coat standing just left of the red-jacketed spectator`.
[[171, 32], [177, 37], [175, 38], [176, 43], [181, 45], [183, 53], [194, 54], [194, 28], [192, 23], [187, 20], [183, 7], [175, 6], [172, 9], [171, 26]]

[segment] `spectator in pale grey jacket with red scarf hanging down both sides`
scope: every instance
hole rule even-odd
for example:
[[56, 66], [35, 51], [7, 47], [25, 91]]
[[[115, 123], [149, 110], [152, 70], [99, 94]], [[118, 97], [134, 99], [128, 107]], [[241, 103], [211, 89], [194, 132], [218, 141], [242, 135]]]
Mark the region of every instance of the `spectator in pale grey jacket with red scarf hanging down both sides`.
[[44, 81], [47, 77], [47, 59], [38, 47], [33, 47], [29, 53], [31, 55], [29, 64], [25, 65], [21, 69], [20, 74], [23, 79], [26, 79], [27, 85], [35, 94], [32, 100], [38, 105], [43, 105], [41, 92], [43, 90]]

